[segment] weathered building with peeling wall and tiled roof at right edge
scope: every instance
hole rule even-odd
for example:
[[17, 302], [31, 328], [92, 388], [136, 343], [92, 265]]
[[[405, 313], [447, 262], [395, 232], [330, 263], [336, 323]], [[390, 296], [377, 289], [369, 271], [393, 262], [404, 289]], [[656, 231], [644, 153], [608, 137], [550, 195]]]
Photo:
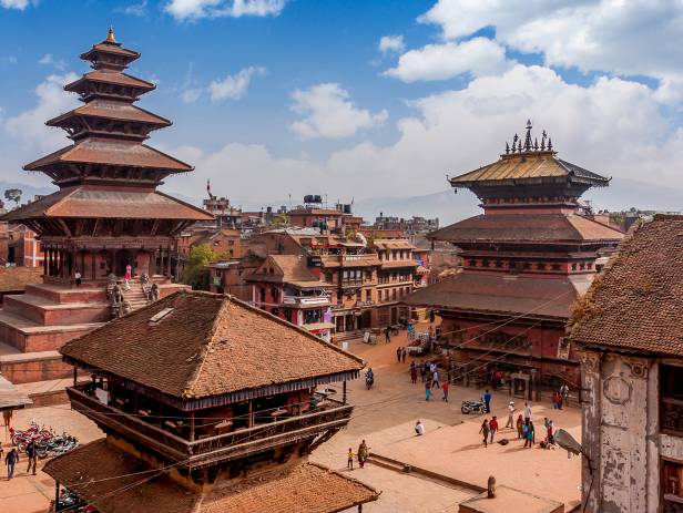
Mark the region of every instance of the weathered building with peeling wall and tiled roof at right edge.
[[683, 511], [681, 233], [683, 216], [638, 226], [569, 325], [581, 357], [584, 511]]

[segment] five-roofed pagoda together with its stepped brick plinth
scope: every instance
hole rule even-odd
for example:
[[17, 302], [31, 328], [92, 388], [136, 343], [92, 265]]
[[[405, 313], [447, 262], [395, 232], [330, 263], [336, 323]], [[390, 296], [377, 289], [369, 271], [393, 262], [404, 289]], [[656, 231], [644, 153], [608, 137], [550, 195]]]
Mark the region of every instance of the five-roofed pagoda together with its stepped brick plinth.
[[4, 297], [0, 310], [0, 369], [13, 382], [62, 376], [57, 349], [111, 319], [108, 283], [120, 280], [126, 266], [135, 278], [124, 300], [133, 309], [149, 293], [137, 277], [149, 276], [147, 287], [155, 284], [161, 297], [182, 287], [172, 280], [176, 235], [213, 219], [156, 189], [192, 166], [145, 144], [152, 131], [171, 122], [135, 105], [155, 89], [124, 72], [139, 57], [111, 29], [81, 55], [92, 71], [64, 89], [83, 105], [48, 121], [73, 144], [24, 166], [50, 176], [59, 191], [4, 217], [33, 229], [45, 254], [43, 283]]

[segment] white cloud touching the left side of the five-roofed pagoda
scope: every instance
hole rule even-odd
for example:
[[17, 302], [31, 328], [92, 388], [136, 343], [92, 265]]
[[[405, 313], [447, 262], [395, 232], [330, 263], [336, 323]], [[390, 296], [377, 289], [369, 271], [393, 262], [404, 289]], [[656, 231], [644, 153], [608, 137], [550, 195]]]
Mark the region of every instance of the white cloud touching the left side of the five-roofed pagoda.
[[65, 146], [64, 132], [45, 126], [45, 121], [78, 104], [77, 96], [63, 90], [64, 84], [78, 79], [75, 73], [50, 75], [35, 88], [38, 104], [16, 116], [6, 119], [4, 130], [26, 146], [44, 151]]

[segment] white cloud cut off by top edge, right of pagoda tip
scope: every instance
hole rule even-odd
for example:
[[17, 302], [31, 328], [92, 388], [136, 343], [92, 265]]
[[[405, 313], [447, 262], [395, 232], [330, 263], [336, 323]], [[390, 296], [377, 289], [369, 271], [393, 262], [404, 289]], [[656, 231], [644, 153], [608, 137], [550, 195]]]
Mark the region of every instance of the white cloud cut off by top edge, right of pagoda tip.
[[201, 18], [278, 16], [285, 0], [170, 0], [164, 10], [179, 21]]

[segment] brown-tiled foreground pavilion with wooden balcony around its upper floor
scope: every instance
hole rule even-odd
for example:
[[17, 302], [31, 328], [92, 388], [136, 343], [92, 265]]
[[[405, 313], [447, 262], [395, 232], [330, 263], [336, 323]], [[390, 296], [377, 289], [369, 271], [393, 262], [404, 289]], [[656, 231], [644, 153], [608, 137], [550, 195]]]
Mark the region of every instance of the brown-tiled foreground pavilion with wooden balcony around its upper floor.
[[73, 507], [61, 488], [105, 513], [333, 513], [378, 497], [308, 461], [348, 423], [363, 360], [256, 307], [182, 290], [61, 352], [91, 373], [68, 392], [106, 438], [45, 465], [58, 512]]

